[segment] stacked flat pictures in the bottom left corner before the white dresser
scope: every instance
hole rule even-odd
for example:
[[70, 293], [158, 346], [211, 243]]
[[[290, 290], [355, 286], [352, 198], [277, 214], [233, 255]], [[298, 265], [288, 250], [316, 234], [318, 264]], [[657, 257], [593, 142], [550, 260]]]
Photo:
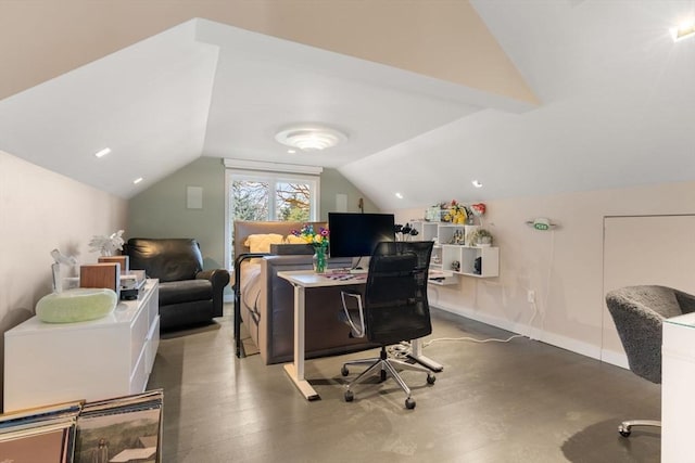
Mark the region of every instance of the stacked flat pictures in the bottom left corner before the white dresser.
[[0, 463], [162, 461], [163, 390], [0, 415]]

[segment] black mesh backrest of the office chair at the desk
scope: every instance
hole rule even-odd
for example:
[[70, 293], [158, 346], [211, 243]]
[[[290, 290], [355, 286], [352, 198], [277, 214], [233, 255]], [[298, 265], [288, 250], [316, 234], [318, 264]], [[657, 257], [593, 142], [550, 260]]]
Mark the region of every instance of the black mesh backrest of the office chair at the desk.
[[427, 279], [422, 282], [421, 274], [415, 253], [371, 256], [364, 294], [370, 342], [390, 345], [432, 332], [427, 287], [422, 288]]

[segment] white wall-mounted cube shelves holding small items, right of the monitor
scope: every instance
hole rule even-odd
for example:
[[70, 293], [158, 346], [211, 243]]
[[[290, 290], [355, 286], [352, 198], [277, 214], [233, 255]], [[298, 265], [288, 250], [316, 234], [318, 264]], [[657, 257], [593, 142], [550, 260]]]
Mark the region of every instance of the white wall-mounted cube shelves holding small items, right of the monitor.
[[[415, 240], [433, 241], [430, 267], [455, 274], [475, 278], [500, 275], [500, 248], [452, 244], [457, 236], [467, 236], [478, 226], [453, 224], [448, 222], [413, 222], [418, 231]], [[456, 266], [455, 262], [458, 265]]]

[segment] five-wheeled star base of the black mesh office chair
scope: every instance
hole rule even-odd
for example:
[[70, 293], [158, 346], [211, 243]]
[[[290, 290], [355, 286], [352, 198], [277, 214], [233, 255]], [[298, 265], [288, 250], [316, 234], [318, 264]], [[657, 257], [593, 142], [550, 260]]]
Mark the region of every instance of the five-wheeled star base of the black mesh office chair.
[[376, 374], [377, 372], [379, 372], [381, 382], [387, 380], [387, 375], [391, 376], [396, 382], [396, 384], [401, 387], [401, 389], [403, 389], [406, 395], [405, 408], [414, 409], [415, 400], [410, 398], [410, 388], [407, 386], [407, 384], [405, 384], [405, 382], [399, 374], [399, 370], [419, 371], [422, 373], [427, 373], [427, 384], [430, 385], [434, 384], [434, 381], [437, 380], [429, 369], [420, 364], [408, 363], [397, 359], [390, 359], [387, 355], [386, 347], [381, 348], [380, 357], [353, 360], [343, 363], [343, 366], [340, 371], [343, 376], [348, 376], [348, 374], [350, 373], [348, 370], [348, 365], [367, 366], [367, 369], [359, 373], [357, 377], [355, 377], [350, 384], [345, 386], [346, 402], [352, 402], [354, 399], [354, 393], [352, 390], [353, 386], [362, 383], [371, 374]]

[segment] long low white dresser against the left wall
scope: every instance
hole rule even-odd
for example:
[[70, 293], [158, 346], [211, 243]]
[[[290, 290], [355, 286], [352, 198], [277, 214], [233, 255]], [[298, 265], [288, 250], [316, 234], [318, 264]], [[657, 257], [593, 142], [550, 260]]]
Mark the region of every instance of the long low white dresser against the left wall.
[[4, 411], [142, 393], [160, 343], [159, 281], [99, 320], [43, 323], [4, 334]]

